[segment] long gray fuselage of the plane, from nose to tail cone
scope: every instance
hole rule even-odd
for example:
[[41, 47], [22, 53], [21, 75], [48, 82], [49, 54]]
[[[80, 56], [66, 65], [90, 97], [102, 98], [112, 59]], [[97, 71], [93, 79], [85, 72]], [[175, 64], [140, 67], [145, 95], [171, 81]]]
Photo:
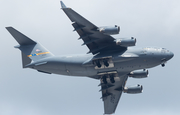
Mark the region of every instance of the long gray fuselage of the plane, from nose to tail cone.
[[[96, 68], [92, 60], [110, 56], [113, 67]], [[128, 48], [125, 52], [114, 52], [98, 55], [76, 55], [76, 56], [53, 56], [44, 58], [28, 67], [40, 72], [54, 73], [70, 76], [88, 76], [98, 79], [98, 73], [106, 71], [117, 71], [118, 73], [129, 73], [138, 69], [151, 68], [173, 57], [173, 53], [164, 48]]]

